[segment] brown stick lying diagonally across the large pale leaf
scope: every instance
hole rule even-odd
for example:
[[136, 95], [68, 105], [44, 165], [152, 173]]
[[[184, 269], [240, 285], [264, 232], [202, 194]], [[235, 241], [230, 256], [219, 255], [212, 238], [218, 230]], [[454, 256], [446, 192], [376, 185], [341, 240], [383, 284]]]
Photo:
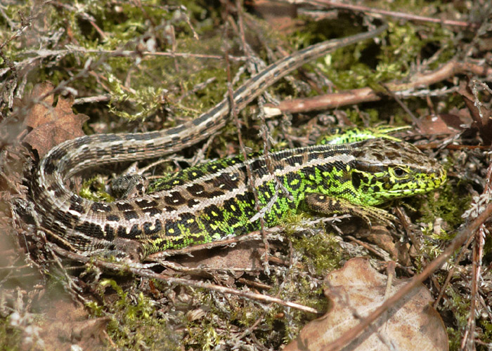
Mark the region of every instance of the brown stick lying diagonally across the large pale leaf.
[[467, 241], [469, 237], [474, 235], [479, 227], [492, 215], [492, 203], [488, 204], [485, 210], [473, 220], [467, 227], [463, 228], [458, 232], [458, 235], [451, 241], [451, 244], [446, 250], [441, 253], [435, 260], [433, 260], [425, 269], [420, 273], [415, 275], [410, 282], [408, 282], [403, 288], [397, 291], [391, 298], [388, 298], [384, 303], [377, 307], [377, 309], [371, 313], [368, 317], [363, 319], [360, 324], [354, 326], [351, 330], [344, 333], [341, 337], [330, 344], [327, 351], [341, 350], [344, 345], [347, 345], [351, 340], [354, 340], [360, 333], [362, 333], [368, 326], [375, 322], [375, 320], [380, 317], [389, 308], [394, 306], [401, 298], [405, 297], [410, 291], [415, 289], [417, 284], [424, 282], [427, 277], [429, 277], [432, 272], [437, 270], [441, 265], [443, 265], [448, 258], [453, 255], [453, 253], [462, 246], [462, 244]]

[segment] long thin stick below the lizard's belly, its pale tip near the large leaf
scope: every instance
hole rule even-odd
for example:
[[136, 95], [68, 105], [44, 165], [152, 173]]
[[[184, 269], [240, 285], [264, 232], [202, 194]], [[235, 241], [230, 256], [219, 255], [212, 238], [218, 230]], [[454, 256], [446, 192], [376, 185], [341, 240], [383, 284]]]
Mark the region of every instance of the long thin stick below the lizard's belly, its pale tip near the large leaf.
[[319, 312], [308, 306], [300, 305], [299, 303], [291, 303], [289, 301], [282, 300], [280, 298], [273, 298], [268, 295], [264, 295], [261, 293], [252, 293], [250, 291], [239, 291], [237, 289], [227, 288], [225, 286], [220, 286], [216, 284], [207, 284], [202, 282], [193, 282], [192, 280], [183, 279], [183, 278], [175, 278], [168, 277], [165, 274], [157, 274], [145, 267], [145, 265], [141, 265], [140, 263], [134, 263], [131, 265], [122, 264], [122, 263], [112, 263], [104, 260], [99, 260], [97, 258], [91, 258], [87, 256], [79, 255], [78, 253], [73, 253], [71, 251], [67, 251], [65, 249], [60, 248], [60, 246], [54, 244], [48, 244], [53, 251], [58, 253], [60, 256], [69, 258], [70, 260], [77, 260], [82, 263], [89, 263], [91, 265], [96, 265], [96, 267], [106, 268], [108, 270], [114, 270], [116, 272], [129, 272], [131, 274], [135, 274], [138, 277], [147, 277], [149, 279], [157, 279], [161, 282], [167, 282], [168, 284], [180, 284], [184, 286], [192, 286], [194, 288], [207, 289], [218, 291], [219, 293], [230, 293], [231, 295], [241, 296], [243, 298], [250, 298], [251, 300], [260, 301], [261, 303], [278, 303], [279, 305], [283, 305], [286, 307], [292, 307], [296, 310], [301, 310], [303, 312], [315, 313]]

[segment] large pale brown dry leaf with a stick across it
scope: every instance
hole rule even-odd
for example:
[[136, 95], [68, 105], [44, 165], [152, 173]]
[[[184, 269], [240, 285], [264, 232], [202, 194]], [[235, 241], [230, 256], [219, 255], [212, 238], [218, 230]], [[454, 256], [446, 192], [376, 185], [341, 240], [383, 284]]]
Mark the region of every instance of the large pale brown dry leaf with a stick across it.
[[[342, 269], [328, 274], [326, 280], [330, 286], [325, 290], [330, 310], [304, 326], [285, 351], [325, 350], [359, 323], [354, 313], [363, 318], [384, 303], [387, 277], [363, 258], [349, 260]], [[408, 279], [394, 278], [389, 296], [407, 282]], [[429, 290], [417, 286], [343, 350], [448, 350], [444, 323], [431, 303]]]

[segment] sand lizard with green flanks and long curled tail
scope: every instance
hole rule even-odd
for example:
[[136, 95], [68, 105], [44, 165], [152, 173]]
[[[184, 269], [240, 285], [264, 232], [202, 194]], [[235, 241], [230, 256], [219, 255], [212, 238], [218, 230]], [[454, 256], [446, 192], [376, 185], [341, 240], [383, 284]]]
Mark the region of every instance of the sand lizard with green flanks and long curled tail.
[[[382, 25], [325, 41], [278, 60], [233, 92], [234, 106], [244, 108], [304, 63], [384, 29]], [[41, 226], [86, 255], [110, 253], [142, 260], [149, 253], [258, 229], [259, 220], [252, 220], [256, 211], [246, 163], [254, 173], [260, 207], [268, 206], [267, 226], [304, 203], [323, 213], [345, 211], [388, 220], [389, 215], [373, 205], [427, 192], [446, 179], [444, 169], [413, 145], [376, 138], [272, 152], [273, 174], [261, 155], [247, 161], [212, 161], [162, 178], [149, 194], [112, 203], [89, 201], [65, 185], [67, 178], [94, 164], [160, 157], [198, 143], [226, 124], [230, 106], [225, 98], [197, 119], [163, 131], [90, 135], [54, 147], [41, 159], [32, 180]], [[278, 183], [290, 196], [276, 192]]]

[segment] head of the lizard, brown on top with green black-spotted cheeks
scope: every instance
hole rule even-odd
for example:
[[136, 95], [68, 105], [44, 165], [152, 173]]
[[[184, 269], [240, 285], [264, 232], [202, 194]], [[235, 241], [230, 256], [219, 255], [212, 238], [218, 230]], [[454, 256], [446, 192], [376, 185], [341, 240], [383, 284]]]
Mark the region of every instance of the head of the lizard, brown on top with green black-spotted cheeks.
[[352, 185], [370, 206], [429, 192], [446, 182], [443, 166], [409, 143], [367, 140], [354, 156]]

